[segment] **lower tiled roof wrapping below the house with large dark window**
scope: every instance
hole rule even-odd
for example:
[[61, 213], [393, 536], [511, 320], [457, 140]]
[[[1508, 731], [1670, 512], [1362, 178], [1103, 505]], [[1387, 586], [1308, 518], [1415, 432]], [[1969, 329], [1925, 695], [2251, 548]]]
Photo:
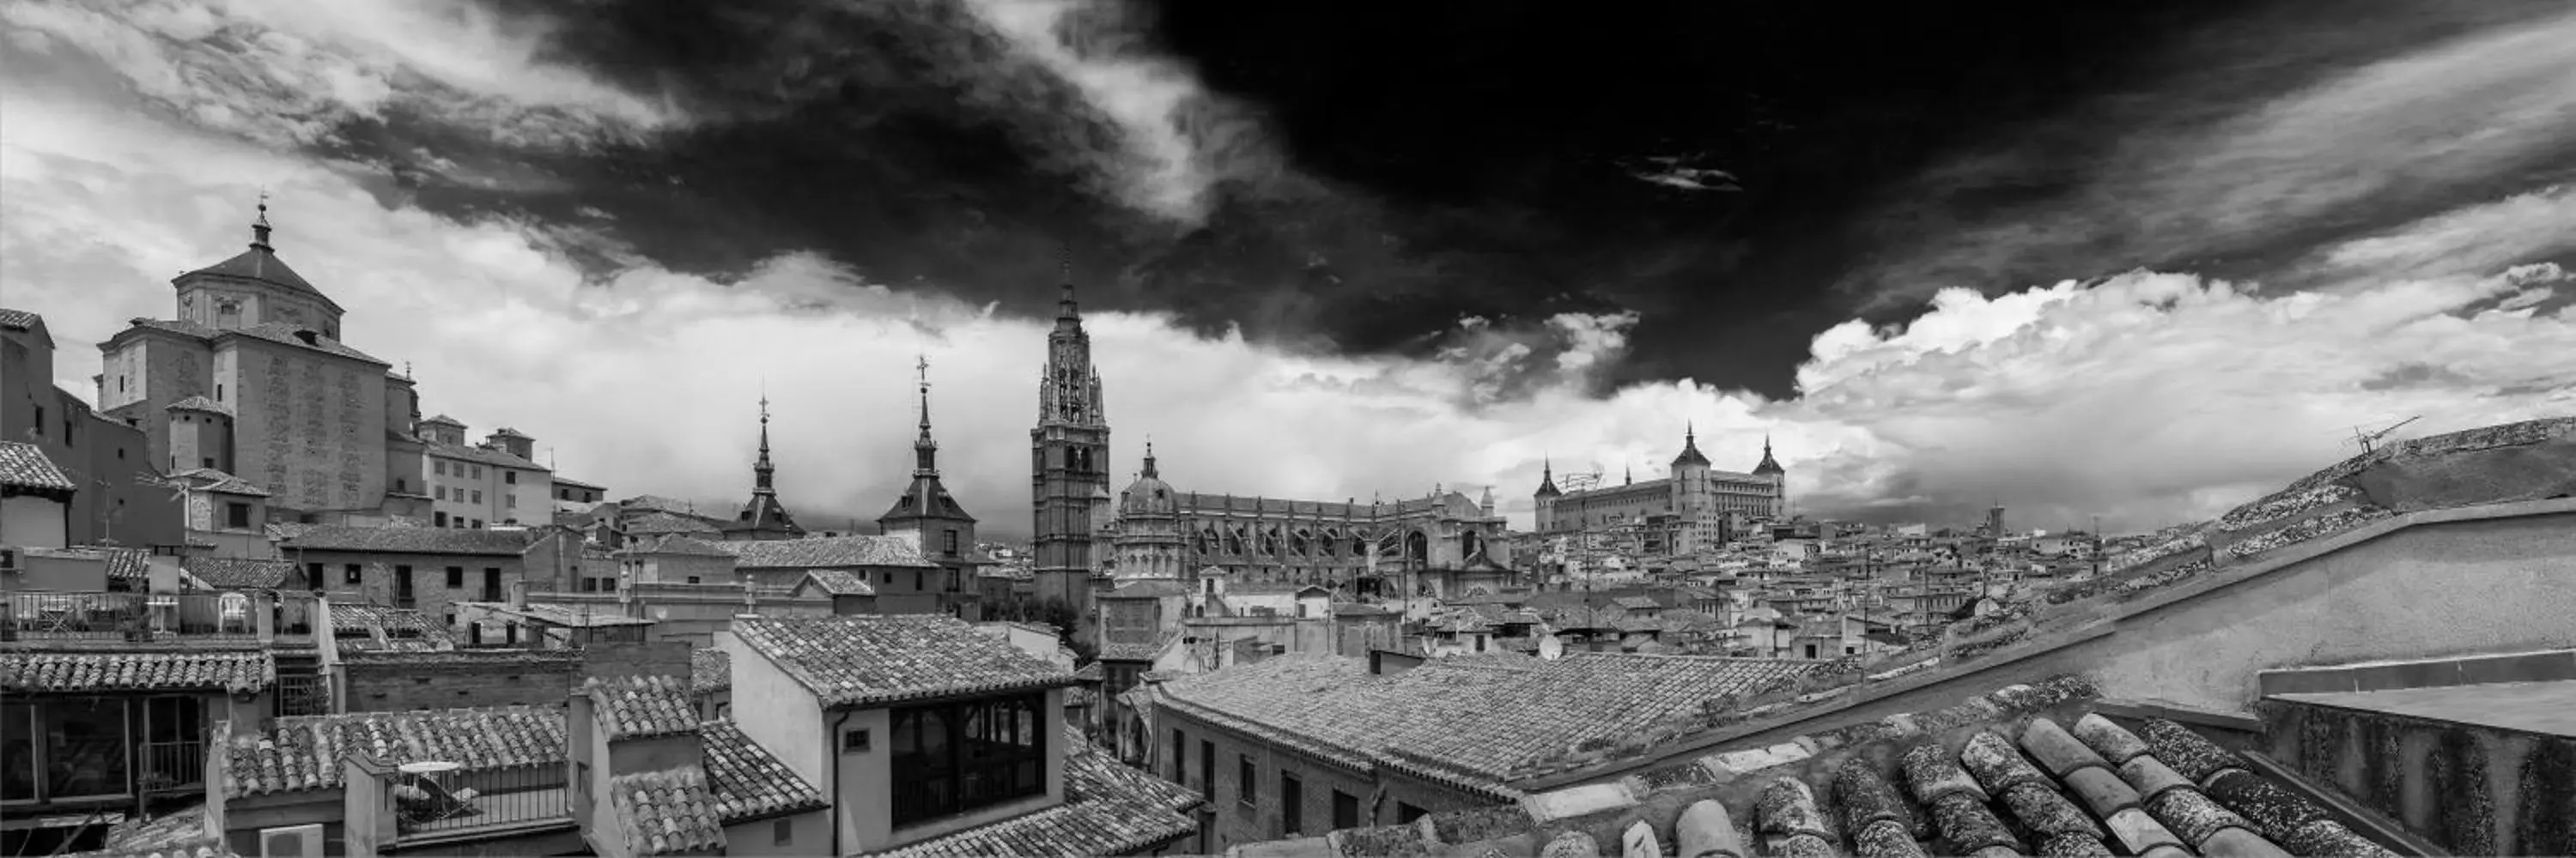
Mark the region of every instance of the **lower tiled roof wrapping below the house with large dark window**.
[[1182, 812], [1198, 794], [1126, 768], [1105, 750], [1064, 732], [1064, 804], [956, 835], [922, 840], [881, 855], [984, 858], [984, 855], [1133, 855], [1198, 832]]

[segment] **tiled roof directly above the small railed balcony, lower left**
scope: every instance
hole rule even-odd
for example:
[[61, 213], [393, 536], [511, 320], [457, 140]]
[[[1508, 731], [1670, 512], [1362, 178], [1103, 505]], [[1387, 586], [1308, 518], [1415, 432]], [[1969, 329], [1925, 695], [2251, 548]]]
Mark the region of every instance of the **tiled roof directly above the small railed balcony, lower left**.
[[268, 732], [237, 732], [224, 791], [260, 796], [340, 786], [340, 758], [384, 765], [438, 760], [474, 768], [562, 765], [562, 706], [353, 711], [276, 719]]

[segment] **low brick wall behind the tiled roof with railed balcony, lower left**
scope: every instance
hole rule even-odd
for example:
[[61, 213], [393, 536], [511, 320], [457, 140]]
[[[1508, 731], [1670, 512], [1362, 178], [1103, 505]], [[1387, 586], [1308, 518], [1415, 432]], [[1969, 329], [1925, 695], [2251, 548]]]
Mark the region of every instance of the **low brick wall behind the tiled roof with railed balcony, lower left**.
[[[688, 652], [680, 654], [688, 660]], [[350, 711], [556, 706], [582, 670], [572, 649], [355, 652]]]

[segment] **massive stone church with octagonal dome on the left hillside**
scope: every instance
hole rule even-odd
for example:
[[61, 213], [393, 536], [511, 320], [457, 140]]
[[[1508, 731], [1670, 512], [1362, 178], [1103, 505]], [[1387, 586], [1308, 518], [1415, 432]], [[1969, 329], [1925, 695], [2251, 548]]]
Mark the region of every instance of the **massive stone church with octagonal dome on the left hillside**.
[[551, 520], [533, 441], [500, 428], [469, 443], [453, 417], [420, 420], [410, 374], [343, 343], [348, 312], [270, 237], [260, 204], [247, 250], [170, 281], [175, 317], [98, 345], [98, 412], [139, 428], [155, 469], [265, 490], [265, 520]]

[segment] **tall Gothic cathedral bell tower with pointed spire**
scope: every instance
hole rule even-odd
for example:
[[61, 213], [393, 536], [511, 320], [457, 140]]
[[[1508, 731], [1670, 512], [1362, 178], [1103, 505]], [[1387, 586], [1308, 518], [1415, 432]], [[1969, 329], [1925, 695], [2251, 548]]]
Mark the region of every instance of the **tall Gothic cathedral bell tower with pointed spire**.
[[1095, 551], [1095, 520], [1110, 505], [1110, 423], [1092, 368], [1092, 338], [1074, 304], [1072, 250], [1061, 258], [1064, 296], [1056, 330], [1046, 335], [1046, 374], [1038, 379], [1038, 425], [1030, 443], [1030, 500], [1038, 598], [1061, 598], [1084, 611]]

